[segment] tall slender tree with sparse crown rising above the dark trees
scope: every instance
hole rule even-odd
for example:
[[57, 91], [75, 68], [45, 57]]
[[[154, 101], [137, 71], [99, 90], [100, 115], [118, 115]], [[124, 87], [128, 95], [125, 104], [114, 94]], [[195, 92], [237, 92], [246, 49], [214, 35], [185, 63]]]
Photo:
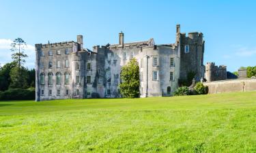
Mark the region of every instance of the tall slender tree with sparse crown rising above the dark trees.
[[[14, 62], [17, 64], [18, 69], [15, 69], [14, 71], [18, 71], [18, 73], [13, 73], [13, 75], [16, 75], [17, 81], [23, 80], [22, 75], [22, 65], [25, 63], [25, 58], [27, 57], [27, 54], [24, 53], [25, 47], [27, 47], [26, 42], [21, 38], [16, 38], [13, 43], [11, 44], [11, 50], [14, 52], [12, 54], [12, 59], [14, 59]], [[19, 86], [17, 86], [19, 87]]]

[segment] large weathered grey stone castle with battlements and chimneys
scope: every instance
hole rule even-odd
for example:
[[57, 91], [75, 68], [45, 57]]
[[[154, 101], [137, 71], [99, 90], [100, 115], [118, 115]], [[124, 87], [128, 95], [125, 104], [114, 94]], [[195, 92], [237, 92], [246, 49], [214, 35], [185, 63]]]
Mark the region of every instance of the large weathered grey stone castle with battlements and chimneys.
[[174, 44], [156, 45], [154, 39], [133, 43], [84, 48], [83, 36], [77, 41], [35, 44], [36, 101], [70, 98], [115, 98], [120, 95], [120, 71], [131, 58], [139, 63], [141, 97], [171, 96], [179, 80], [188, 73], [204, 78], [203, 33], [180, 33], [176, 26]]

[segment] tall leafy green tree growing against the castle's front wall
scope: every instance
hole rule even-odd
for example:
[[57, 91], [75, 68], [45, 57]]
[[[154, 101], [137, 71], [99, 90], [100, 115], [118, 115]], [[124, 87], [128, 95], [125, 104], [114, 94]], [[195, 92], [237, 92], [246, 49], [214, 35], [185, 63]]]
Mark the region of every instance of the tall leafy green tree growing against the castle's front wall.
[[125, 98], [139, 97], [139, 64], [132, 58], [121, 70], [120, 92]]

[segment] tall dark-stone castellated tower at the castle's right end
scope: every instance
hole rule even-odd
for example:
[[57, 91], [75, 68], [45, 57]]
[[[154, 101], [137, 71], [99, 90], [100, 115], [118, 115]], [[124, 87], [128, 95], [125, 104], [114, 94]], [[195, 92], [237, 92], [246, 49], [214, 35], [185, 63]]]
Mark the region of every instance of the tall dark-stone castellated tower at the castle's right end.
[[197, 81], [204, 78], [203, 33], [188, 33], [186, 37], [186, 33], [180, 33], [180, 26], [177, 25], [177, 39], [180, 39], [180, 79], [186, 80], [189, 73], [195, 73]]

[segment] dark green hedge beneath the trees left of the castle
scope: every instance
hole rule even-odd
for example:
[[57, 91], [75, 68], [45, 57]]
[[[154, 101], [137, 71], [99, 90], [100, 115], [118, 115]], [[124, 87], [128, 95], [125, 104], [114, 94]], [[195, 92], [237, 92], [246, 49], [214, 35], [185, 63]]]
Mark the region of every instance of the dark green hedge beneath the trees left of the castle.
[[35, 99], [35, 89], [21, 89], [21, 88], [14, 88], [5, 90], [0, 92], [0, 100], [3, 101], [11, 101], [11, 100], [34, 100]]

